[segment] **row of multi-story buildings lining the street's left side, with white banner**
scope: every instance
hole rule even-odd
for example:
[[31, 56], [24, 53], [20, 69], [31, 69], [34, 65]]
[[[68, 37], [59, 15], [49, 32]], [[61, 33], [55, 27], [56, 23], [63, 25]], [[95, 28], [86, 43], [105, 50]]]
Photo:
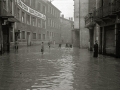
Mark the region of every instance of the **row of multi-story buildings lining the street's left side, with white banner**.
[[[60, 41], [60, 10], [47, 0], [1, 0], [0, 46]], [[7, 44], [6, 44], [7, 43]]]

